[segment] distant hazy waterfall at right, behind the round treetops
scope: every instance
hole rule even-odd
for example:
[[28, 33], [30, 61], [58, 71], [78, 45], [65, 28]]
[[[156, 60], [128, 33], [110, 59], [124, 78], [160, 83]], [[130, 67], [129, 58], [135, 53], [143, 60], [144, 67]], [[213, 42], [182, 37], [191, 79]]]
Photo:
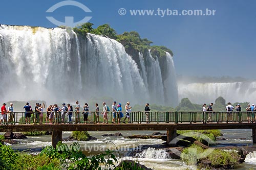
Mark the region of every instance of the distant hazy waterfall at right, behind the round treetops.
[[214, 102], [219, 96], [231, 103], [256, 102], [256, 82], [179, 83], [178, 92], [179, 99], [198, 104]]

